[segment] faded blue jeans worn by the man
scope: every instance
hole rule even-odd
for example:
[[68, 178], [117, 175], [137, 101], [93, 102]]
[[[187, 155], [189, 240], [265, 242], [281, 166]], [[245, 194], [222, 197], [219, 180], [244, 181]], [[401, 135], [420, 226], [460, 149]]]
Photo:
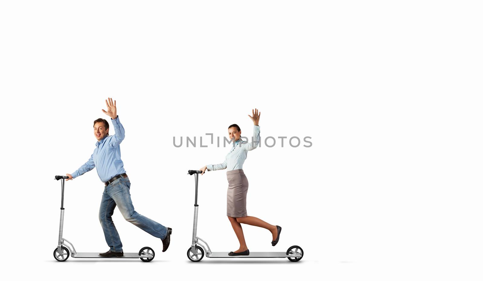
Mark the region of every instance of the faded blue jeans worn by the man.
[[110, 185], [104, 188], [102, 193], [102, 201], [99, 208], [99, 221], [104, 231], [104, 237], [110, 247], [111, 252], [122, 252], [122, 243], [119, 238], [119, 233], [114, 226], [112, 215], [116, 205], [123, 217], [133, 225], [141, 228], [154, 237], [164, 239], [168, 233], [168, 228], [149, 219], [142, 214], [134, 211], [134, 206], [131, 201], [131, 194], [129, 189], [131, 183], [129, 178], [118, 178]]

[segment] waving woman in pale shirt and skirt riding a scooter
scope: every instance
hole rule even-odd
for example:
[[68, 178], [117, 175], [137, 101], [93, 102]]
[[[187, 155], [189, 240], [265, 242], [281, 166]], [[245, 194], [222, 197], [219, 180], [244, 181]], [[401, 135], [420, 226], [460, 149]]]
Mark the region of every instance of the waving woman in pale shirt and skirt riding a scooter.
[[225, 161], [220, 164], [207, 165], [199, 169], [202, 171], [201, 174], [204, 174], [207, 170], [216, 171], [227, 169], [227, 216], [235, 234], [237, 235], [238, 241], [240, 242], [240, 248], [234, 252], [230, 252], [228, 254], [230, 256], [250, 254], [243, 236], [241, 224], [268, 229], [272, 234], [272, 246], [275, 246], [278, 243], [280, 232], [282, 231], [282, 227], [270, 225], [257, 217], [247, 215], [246, 194], [248, 191], [248, 180], [243, 173], [242, 166], [246, 159], [247, 152], [255, 149], [260, 142], [260, 127], [258, 126], [260, 113], [258, 112], [258, 109], [255, 108], [255, 110], [252, 110], [252, 115], [253, 116], [248, 115], [254, 124], [252, 142], [243, 142], [241, 140], [240, 127], [237, 124], [230, 125], [228, 127], [228, 136], [233, 141], [233, 147], [230, 147], [230, 152], [228, 152], [225, 157]]

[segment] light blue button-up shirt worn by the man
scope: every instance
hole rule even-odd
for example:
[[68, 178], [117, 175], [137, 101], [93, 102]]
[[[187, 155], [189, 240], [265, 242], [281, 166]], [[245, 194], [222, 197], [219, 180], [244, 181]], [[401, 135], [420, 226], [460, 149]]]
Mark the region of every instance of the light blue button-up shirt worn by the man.
[[96, 167], [97, 174], [102, 182], [107, 182], [118, 174], [126, 173], [124, 164], [121, 160], [121, 149], [119, 144], [125, 136], [124, 127], [119, 122], [119, 116], [111, 119], [114, 126], [114, 135], [108, 135], [96, 142], [94, 153], [84, 165], [72, 173], [72, 178], [89, 172]]

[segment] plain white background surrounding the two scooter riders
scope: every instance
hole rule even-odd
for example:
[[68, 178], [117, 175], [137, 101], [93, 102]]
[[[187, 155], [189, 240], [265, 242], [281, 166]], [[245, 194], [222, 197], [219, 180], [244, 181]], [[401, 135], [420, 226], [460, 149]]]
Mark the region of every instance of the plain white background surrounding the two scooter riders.
[[[2, 1], [4, 275], [85, 278], [481, 280], [482, 17], [477, 1]], [[114, 222], [139, 260], [54, 260], [60, 183], [91, 155], [92, 121], [117, 101], [136, 210], [173, 228], [158, 239]], [[191, 263], [193, 177], [229, 148], [173, 136], [311, 136], [260, 147], [243, 169], [251, 251], [286, 259]], [[285, 140], [286, 141], [286, 140]], [[233, 251], [226, 175], [200, 178], [199, 236]], [[66, 183], [64, 237], [104, 252], [95, 171]]]

